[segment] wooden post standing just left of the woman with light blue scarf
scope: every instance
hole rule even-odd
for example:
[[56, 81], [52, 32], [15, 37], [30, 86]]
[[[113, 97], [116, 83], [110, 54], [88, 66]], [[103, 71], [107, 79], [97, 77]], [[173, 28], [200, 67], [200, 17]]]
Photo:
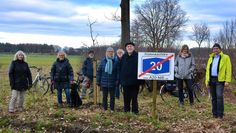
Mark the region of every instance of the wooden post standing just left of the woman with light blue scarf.
[[94, 101], [94, 104], [97, 104], [96, 72], [97, 72], [97, 60], [93, 60], [93, 101]]

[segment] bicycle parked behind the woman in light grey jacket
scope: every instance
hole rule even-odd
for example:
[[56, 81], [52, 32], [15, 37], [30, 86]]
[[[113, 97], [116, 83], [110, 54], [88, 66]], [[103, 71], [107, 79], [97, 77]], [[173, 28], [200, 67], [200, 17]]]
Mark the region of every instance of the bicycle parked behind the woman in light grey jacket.
[[[192, 85], [191, 89], [193, 89], [193, 96], [198, 102], [200, 102], [199, 96], [205, 95], [205, 92], [202, 89], [202, 83], [201, 83], [203, 76], [204, 76], [203, 71], [199, 71], [197, 69], [194, 70], [193, 85]], [[189, 97], [186, 85], [183, 88], [183, 93], [184, 93], [184, 99]], [[170, 98], [169, 97], [170, 95], [174, 96], [174, 97], [179, 97], [176, 81], [175, 80], [164, 81], [161, 85], [159, 95], [161, 96], [161, 99], [164, 102], [168, 101], [168, 99]]]

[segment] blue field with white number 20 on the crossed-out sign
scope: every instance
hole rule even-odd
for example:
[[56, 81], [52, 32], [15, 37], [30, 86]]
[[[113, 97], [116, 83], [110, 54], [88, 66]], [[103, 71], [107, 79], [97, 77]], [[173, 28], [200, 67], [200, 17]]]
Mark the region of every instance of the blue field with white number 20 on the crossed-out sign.
[[[162, 58], [143, 59], [143, 72], [147, 71], [149, 68], [154, 66], [156, 63], [161, 62], [162, 60], [163, 60]], [[151, 74], [169, 73], [169, 68], [170, 68], [170, 60], [164, 62], [160, 66], [157, 66], [156, 68], [154, 68], [148, 73], [151, 73]]]

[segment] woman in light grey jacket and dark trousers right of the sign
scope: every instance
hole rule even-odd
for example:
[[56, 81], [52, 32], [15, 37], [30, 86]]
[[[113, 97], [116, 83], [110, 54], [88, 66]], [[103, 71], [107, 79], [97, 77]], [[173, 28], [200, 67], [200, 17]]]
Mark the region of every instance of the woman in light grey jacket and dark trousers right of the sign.
[[183, 45], [175, 59], [175, 77], [179, 89], [179, 104], [184, 105], [183, 82], [187, 85], [190, 105], [194, 104], [193, 98], [193, 71], [195, 69], [195, 60], [193, 54], [189, 51], [188, 45]]

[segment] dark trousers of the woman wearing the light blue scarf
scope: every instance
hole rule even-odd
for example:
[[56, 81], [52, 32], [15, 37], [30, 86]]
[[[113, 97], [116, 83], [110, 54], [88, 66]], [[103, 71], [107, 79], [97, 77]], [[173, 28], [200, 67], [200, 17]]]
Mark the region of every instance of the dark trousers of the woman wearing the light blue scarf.
[[102, 87], [102, 93], [103, 93], [102, 105], [103, 105], [104, 110], [107, 110], [107, 97], [108, 97], [108, 93], [110, 93], [110, 109], [114, 111], [115, 110], [115, 87], [114, 88]]

